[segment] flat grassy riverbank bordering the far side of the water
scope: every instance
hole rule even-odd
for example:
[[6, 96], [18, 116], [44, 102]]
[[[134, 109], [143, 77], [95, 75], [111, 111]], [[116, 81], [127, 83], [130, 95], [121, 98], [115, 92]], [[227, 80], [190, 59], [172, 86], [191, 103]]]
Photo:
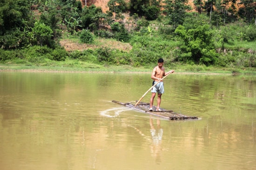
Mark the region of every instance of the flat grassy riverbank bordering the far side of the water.
[[[0, 71], [23, 71], [23, 72], [93, 72], [93, 73], [150, 73], [154, 66], [131, 67], [128, 65], [98, 65], [93, 63], [58, 64], [52, 66], [36, 66], [26, 64], [0, 64]], [[166, 70], [174, 69], [176, 74], [256, 74], [255, 68], [233, 69], [233, 68], [214, 68], [200, 65], [178, 65], [172, 68], [165, 67]]]

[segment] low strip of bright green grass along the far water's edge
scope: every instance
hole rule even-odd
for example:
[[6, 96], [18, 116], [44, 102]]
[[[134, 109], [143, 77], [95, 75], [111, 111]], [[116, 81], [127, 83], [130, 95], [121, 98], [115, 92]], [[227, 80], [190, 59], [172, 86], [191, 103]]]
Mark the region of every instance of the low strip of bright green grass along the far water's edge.
[[[66, 59], [66, 61], [56, 62], [47, 61], [47, 63], [15, 63], [9, 61], [0, 64], [0, 70], [26, 70], [26, 71], [62, 71], [62, 72], [151, 72], [153, 66], [150, 67], [132, 67], [129, 65], [108, 65], [88, 63], [73, 59]], [[218, 73], [218, 74], [256, 74], [256, 68], [216, 68], [206, 67], [202, 65], [186, 65], [175, 64], [172, 67], [165, 67], [166, 71], [174, 69], [175, 73]]]

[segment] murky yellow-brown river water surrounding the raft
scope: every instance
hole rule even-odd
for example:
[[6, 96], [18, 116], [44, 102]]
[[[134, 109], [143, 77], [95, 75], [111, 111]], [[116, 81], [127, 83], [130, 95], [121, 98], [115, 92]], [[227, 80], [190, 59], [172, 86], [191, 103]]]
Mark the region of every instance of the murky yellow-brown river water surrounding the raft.
[[149, 77], [0, 72], [0, 170], [256, 170], [256, 76], [168, 76], [161, 107], [200, 120], [111, 102]]

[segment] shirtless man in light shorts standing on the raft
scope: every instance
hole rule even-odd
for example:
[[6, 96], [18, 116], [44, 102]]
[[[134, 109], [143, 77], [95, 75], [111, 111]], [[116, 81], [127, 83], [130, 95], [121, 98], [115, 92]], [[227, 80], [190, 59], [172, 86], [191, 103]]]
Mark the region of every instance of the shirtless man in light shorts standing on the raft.
[[153, 107], [153, 103], [154, 103], [154, 99], [155, 99], [155, 94], [157, 93], [157, 107], [156, 107], [156, 111], [161, 111], [159, 109], [160, 107], [160, 103], [161, 103], [161, 96], [164, 92], [164, 88], [163, 88], [163, 82], [162, 82], [162, 78], [163, 76], [166, 76], [168, 74], [173, 73], [174, 70], [170, 70], [167, 73], [165, 73], [164, 71], [164, 67], [163, 67], [163, 59], [159, 58], [158, 59], [158, 63], [157, 66], [153, 69], [153, 72], [151, 74], [151, 78], [154, 80], [153, 85], [159, 81], [157, 85], [155, 85], [154, 88], [152, 88], [151, 90], [151, 99], [150, 99], [150, 108], [149, 111], [153, 111], [152, 107]]

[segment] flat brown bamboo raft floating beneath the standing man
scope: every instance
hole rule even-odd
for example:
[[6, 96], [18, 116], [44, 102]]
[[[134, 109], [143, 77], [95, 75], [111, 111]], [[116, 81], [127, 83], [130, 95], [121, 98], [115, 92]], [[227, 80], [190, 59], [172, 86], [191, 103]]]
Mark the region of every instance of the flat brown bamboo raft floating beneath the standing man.
[[166, 110], [164, 108], [160, 108], [161, 111], [155, 111], [155, 109], [156, 109], [155, 106], [153, 106], [153, 111], [149, 111], [149, 107], [150, 107], [149, 103], [144, 103], [144, 102], [139, 102], [136, 105], [136, 107], [135, 107], [135, 105], [131, 104], [132, 102], [128, 102], [128, 103], [122, 103], [120, 101], [112, 101], [112, 102], [121, 104], [123, 106], [131, 107], [131, 108], [134, 108], [134, 109], [142, 111], [142, 112], [154, 114], [156, 116], [160, 116], [162, 118], [166, 118], [169, 120], [192, 120], [192, 119], [197, 120], [198, 119], [197, 117], [194, 117], [194, 116], [186, 116], [186, 115], [183, 115], [180, 113], [175, 113], [172, 110]]

